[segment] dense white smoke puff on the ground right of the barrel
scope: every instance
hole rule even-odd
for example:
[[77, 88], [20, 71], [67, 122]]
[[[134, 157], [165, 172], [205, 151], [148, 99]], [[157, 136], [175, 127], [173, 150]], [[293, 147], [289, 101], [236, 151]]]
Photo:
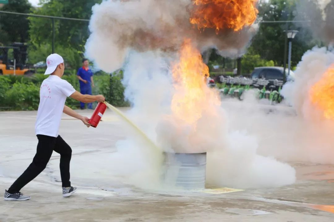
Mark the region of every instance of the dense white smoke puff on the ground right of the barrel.
[[277, 187], [296, 181], [293, 167], [274, 157], [259, 155], [257, 149], [256, 136], [245, 131], [230, 132], [224, 149], [208, 153], [207, 183], [247, 189]]

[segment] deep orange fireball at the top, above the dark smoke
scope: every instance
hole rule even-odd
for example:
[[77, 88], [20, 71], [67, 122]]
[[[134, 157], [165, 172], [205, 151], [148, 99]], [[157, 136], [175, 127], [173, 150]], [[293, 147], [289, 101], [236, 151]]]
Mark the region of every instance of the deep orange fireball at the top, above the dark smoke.
[[214, 28], [239, 31], [252, 25], [259, 13], [256, 8], [258, 0], [193, 0], [194, 10], [190, 23], [198, 29]]

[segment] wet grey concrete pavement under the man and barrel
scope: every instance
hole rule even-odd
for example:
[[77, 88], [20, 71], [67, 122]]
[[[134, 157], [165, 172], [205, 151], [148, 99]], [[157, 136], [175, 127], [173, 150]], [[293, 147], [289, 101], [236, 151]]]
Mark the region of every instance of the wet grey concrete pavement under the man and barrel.
[[[80, 111], [90, 116], [92, 111]], [[7, 189], [31, 162], [37, 138], [35, 111], [0, 112], [0, 190]], [[125, 137], [110, 111], [97, 128], [64, 116], [60, 134], [72, 147], [71, 182], [78, 191], [61, 195], [59, 156], [22, 192], [28, 201], [0, 201], [1, 222], [44, 221], [334, 221], [334, 166], [290, 162], [295, 184], [230, 193], [141, 190], [112, 175], [106, 156]]]

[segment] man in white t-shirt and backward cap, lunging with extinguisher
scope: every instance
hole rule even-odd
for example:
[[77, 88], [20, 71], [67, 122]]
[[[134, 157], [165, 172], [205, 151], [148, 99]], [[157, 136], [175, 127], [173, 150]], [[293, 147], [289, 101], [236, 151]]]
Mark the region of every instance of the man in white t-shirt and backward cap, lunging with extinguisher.
[[65, 106], [67, 97], [71, 97], [82, 103], [95, 101], [104, 102], [102, 95], [82, 95], [75, 91], [66, 80], [61, 79], [64, 74], [64, 60], [58, 54], [51, 54], [46, 59], [47, 69], [45, 79], [39, 91], [39, 106], [35, 124], [35, 133], [38, 138], [37, 151], [32, 163], [23, 174], [5, 191], [5, 200], [28, 200], [29, 196], [23, 195], [20, 190], [46, 167], [51, 154], [54, 151], [60, 154], [60, 176], [62, 182], [63, 197], [68, 197], [76, 191], [69, 181], [69, 162], [71, 160], [71, 147], [58, 134], [62, 113], [80, 119], [89, 126], [89, 118], [81, 116], [69, 107]]

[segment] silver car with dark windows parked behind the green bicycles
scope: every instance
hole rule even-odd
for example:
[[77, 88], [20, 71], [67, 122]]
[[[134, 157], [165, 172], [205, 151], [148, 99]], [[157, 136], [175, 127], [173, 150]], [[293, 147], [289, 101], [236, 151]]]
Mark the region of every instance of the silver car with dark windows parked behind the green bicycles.
[[[290, 70], [290, 76], [288, 76], [289, 70], [286, 69], [286, 80], [294, 80], [294, 73]], [[274, 85], [274, 81], [284, 81], [284, 68], [283, 67], [257, 67], [251, 74], [252, 79], [265, 79], [269, 81], [266, 86], [267, 89], [278, 90], [278, 86]], [[276, 81], [277, 82], [277, 81]], [[283, 82], [284, 83], [284, 82]], [[274, 87], [275, 86], [275, 87]], [[261, 88], [261, 86], [259, 86]], [[262, 86], [263, 87], [263, 86]]]

